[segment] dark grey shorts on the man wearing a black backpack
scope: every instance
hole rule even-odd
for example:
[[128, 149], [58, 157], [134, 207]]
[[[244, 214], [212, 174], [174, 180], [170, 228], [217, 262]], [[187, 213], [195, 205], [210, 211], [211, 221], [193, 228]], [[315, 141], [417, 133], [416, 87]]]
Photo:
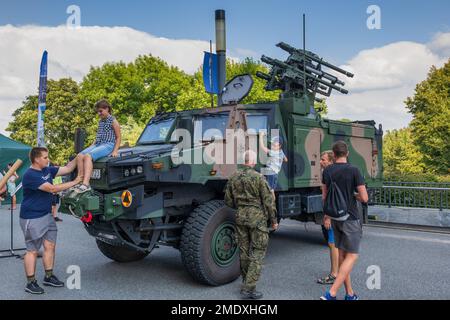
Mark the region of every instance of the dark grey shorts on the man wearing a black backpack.
[[362, 238], [361, 220], [331, 220], [336, 248], [348, 253], [359, 253]]

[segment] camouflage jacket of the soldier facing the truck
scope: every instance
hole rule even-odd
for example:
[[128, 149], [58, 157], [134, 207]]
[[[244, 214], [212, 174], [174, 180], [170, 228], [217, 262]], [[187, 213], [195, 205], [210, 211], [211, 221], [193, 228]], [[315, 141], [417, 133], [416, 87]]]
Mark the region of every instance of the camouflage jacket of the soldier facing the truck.
[[237, 209], [236, 222], [255, 227], [277, 223], [272, 193], [264, 176], [244, 167], [234, 173], [225, 187], [225, 204]]

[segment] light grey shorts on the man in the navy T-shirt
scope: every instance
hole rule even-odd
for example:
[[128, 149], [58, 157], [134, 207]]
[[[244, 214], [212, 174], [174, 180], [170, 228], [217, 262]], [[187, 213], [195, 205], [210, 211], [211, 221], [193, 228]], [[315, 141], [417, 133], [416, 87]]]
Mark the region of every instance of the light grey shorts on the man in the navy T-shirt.
[[44, 240], [56, 243], [58, 228], [50, 213], [36, 219], [20, 218], [20, 227], [25, 237], [27, 251], [39, 251]]

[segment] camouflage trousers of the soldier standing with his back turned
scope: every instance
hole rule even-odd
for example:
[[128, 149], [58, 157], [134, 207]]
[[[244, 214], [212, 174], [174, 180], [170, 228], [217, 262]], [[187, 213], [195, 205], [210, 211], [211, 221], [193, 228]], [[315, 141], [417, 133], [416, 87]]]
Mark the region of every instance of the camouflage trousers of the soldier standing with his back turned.
[[249, 227], [236, 225], [236, 241], [239, 245], [241, 261], [242, 289], [253, 290], [261, 275], [269, 232], [267, 227]]

